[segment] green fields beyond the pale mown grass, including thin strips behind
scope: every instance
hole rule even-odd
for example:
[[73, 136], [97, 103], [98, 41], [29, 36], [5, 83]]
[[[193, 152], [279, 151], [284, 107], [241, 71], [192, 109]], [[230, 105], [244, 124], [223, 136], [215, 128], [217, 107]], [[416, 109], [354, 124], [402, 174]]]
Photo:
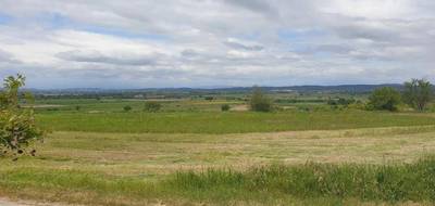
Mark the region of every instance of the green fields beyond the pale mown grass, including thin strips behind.
[[[39, 124], [53, 131], [157, 132], [157, 133], [244, 133], [288, 130], [335, 130], [394, 126], [434, 125], [435, 116], [419, 113], [332, 110], [322, 103], [283, 104], [289, 107], [274, 113], [248, 111], [221, 112], [222, 104], [247, 105], [241, 101], [161, 101], [158, 113], [144, 112], [140, 100], [54, 100], [37, 108]], [[124, 112], [123, 106], [132, 111]], [[79, 110], [76, 110], [78, 107]]]

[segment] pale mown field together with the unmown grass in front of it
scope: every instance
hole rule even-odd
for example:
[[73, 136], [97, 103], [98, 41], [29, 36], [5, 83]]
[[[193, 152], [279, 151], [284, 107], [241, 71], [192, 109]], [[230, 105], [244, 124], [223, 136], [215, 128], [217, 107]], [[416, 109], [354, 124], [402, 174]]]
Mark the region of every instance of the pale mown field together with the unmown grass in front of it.
[[434, 126], [53, 132], [35, 158], [0, 158], [0, 195], [85, 205], [432, 205], [435, 158], [419, 158], [435, 149], [434, 136]]

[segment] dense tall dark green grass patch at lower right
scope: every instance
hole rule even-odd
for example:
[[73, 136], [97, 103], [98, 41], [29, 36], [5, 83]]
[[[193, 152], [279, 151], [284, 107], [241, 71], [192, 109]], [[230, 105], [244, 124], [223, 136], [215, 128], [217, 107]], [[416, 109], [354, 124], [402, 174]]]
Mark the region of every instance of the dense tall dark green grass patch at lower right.
[[263, 166], [245, 172], [231, 169], [182, 171], [166, 183], [183, 196], [209, 201], [268, 194], [302, 199], [435, 203], [435, 157], [403, 165], [306, 164]]

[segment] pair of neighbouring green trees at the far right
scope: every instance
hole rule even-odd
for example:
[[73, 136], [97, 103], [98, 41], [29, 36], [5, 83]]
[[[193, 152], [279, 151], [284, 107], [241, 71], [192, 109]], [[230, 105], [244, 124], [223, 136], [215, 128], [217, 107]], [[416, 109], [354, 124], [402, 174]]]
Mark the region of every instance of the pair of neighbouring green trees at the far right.
[[417, 111], [424, 111], [433, 98], [432, 85], [425, 79], [412, 79], [405, 82], [402, 93], [394, 88], [376, 89], [369, 98], [370, 110], [397, 111], [400, 103], [406, 103]]

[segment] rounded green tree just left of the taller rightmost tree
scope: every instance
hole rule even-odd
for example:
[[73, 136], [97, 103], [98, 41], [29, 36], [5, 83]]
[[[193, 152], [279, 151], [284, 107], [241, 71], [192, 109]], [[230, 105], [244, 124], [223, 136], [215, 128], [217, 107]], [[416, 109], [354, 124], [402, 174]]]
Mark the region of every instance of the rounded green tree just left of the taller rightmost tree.
[[400, 93], [389, 87], [380, 88], [373, 91], [369, 96], [369, 108], [397, 111], [400, 104]]

